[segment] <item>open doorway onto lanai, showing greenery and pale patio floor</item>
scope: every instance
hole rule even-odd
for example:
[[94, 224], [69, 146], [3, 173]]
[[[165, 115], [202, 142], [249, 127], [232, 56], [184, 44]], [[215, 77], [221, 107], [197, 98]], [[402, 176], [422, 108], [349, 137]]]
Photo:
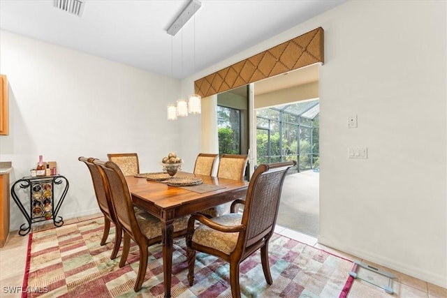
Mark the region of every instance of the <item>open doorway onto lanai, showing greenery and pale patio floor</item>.
[[319, 100], [256, 110], [257, 163], [296, 161], [284, 181], [277, 224], [318, 237]]

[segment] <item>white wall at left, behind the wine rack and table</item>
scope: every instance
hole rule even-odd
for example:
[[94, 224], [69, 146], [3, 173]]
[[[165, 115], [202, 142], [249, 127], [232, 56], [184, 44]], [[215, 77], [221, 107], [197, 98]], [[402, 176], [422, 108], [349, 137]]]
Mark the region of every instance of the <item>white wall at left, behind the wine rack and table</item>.
[[[69, 183], [59, 216], [99, 212], [87, 167], [79, 156], [106, 159], [137, 152], [140, 171], [159, 171], [170, 151], [191, 170], [200, 144], [182, 146], [182, 125], [166, 120], [180, 82], [49, 43], [0, 32], [0, 73], [8, 76], [10, 134], [0, 136], [0, 161], [12, 161], [10, 181], [29, 176], [38, 156], [57, 161]], [[200, 124], [196, 124], [200, 126]], [[193, 156], [193, 159], [186, 158]], [[11, 199], [10, 230], [25, 222]]]

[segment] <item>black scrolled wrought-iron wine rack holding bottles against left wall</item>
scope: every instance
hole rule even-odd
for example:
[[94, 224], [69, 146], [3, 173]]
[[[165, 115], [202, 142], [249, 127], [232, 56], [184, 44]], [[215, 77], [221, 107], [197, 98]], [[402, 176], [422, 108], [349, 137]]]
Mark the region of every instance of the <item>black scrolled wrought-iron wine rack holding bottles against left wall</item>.
[[[20, 200], [19, 195], [28, 196]], [[23, 177], [11, 187], [11, 195], [27, 223], [20, 226], [19, 234], [31, 231], [31, 225], [41, 221], [52, 221], [57, 227], [64, 225], [64, 219], [57, 216], [68, 192], [68, 180], [59, 174], [45, 177]], [[23, 201], [23, 202], [22, 202]]]

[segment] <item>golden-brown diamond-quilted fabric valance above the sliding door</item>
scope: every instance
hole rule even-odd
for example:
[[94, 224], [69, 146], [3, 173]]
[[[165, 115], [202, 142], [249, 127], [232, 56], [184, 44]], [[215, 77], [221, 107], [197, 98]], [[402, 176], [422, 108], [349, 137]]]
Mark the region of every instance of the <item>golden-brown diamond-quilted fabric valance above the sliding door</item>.
[[202, 97], [219, 94], [281, 73], [324, 62], [323, 28], [296, 38], [223, 68], [194, 82]]

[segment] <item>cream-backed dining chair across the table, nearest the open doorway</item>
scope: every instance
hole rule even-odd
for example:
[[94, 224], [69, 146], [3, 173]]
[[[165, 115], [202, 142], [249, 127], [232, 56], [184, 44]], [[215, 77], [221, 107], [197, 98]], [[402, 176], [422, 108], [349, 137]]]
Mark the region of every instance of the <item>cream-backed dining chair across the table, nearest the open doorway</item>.
[[[249, 156], [247, 154], [222, 154], [219, 158], [219, 167], [217, 168], [217, 177], [244, 180], [245, 167]], [[208, 217], [216, 217], [230, 212], [231, 202], [220, 204], [210, 209], [201, 211]]]

